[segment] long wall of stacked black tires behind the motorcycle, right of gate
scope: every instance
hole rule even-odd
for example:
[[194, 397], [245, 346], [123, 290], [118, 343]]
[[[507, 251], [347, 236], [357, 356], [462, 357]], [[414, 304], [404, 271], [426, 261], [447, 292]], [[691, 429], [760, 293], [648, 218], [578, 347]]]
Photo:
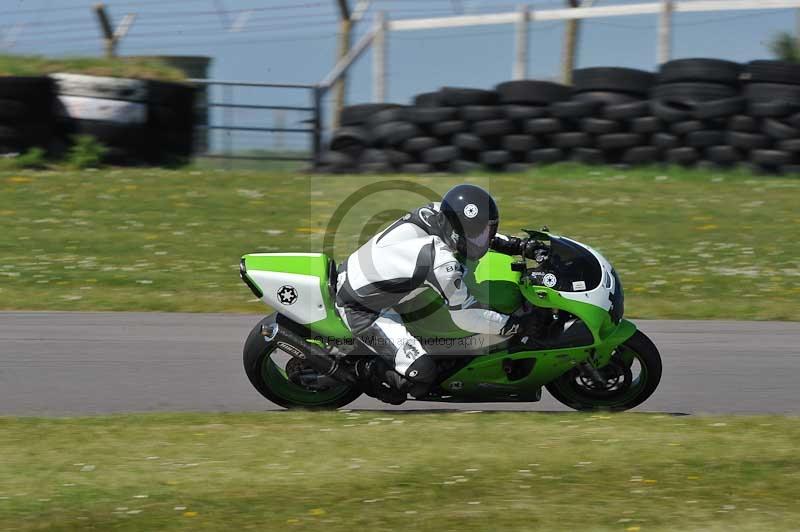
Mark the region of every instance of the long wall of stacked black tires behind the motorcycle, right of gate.
[[517, 171], [576, 161], [800, 173], [800, 65], [680, 59], [658, 73], [601, 67], [573, 79], [346, 107], [320, 169]]

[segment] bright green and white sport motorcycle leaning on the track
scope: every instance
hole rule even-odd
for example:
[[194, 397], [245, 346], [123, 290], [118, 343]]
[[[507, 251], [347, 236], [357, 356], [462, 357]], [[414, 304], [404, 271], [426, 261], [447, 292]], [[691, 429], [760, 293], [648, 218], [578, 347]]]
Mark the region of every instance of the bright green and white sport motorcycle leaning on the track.
[[[576, 410], [622, 411], [653, 394], [661, 357], [653, 342], [623, 318], [622, 283], [591, 247], [526, 230], [533, 257], [490, 251], [468, 264], [471, 294], [498, 312], [523, 306], [544, 314], [543, 334], [511, 337], [462, 331], [446, 305], [427, 290], [395, 310], [438, 367], [423, 401], [533, 402], [542, 387]], [[253, 253], [240, 276], [276, 312], [244, 345], [244, 368], [264, 397], [286, 408], [335, 409], [365, 390], [354, 371], [374, 356], [352, 337], [334, 301], [336, 264], [322, 253]]]

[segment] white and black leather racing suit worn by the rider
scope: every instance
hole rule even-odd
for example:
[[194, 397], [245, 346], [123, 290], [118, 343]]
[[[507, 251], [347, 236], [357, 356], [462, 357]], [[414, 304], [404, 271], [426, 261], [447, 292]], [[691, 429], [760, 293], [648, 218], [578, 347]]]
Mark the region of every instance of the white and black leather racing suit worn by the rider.
[[[439, 204], [406, 214], [375, 235], [340, 266], [336, 306], [353, 334], [409, 379], [425, 381], [432, 362], [393, 310], [431, 288], [445, 301], [453, 322], [468, 332], [501, 334], [506, 314], [482, 307], [464, 282], [465, 267], [440, 235]], [[507, 237], [498, 235], [499, 251]], [[514, 239], [517, 240], [517, 239]]]

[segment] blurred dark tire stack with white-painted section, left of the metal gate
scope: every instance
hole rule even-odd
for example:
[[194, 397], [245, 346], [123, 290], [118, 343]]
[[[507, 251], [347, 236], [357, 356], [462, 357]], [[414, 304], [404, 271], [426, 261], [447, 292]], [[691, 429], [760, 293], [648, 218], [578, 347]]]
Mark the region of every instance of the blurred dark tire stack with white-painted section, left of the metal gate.
[[91, 135], [114, 164], [159, 164], [192, 153], [195, 88], [180, 83], [54, 74], [0, 78], [0, 152], [63, 156]]

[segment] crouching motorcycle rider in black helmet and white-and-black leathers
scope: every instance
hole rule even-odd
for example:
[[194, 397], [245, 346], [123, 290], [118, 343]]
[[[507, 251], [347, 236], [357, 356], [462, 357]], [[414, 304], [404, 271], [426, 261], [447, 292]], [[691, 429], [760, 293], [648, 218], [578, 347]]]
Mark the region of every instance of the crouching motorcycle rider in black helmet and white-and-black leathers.
[[438, 292], [465, 331], [536, 335], [536, 314], [520, 309], [507, 315], [482, 306], [463, 280], [465, 261], [480, 259], [490, 248], [507, 255], [532, 253], [528, 240], [497, 234], [498, 222], [488, 192], [457, 185], [440, 203], [407, 213], [372, 237], [341, 265], [337, 310], [353, 335], [378, 355], [356, 365], [359, 377], [372, 384], [367, 393], [399, 404], [408, 393], [423, 397], [434, 383], [436, 364], [393, 310], [428, 288]]

